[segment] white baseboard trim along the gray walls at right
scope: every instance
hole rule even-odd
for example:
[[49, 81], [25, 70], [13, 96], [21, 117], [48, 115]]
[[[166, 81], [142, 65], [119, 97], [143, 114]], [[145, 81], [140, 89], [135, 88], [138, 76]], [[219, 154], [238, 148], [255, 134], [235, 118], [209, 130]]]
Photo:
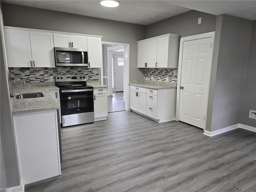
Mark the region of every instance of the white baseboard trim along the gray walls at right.
[[212, 132], [205, 130], [204, 134], [209, 136], [209, 137], [212, 137], [212, 136], [216, 136], [218, 134], [222, 134], [222, 133], [225, 133], [225, 132], [237, 129], [237, 128], [241, 128], [241, 129], [244, 129], [244, 130], [256, 132], [256, 127], [252, 127], [252, 126], [248, 126], [248, 125], [238, 123], [238, 124], [228, 126], [228, 127], [225, 127], [225, 128], [222, 128], [222, 129], [219, 129], [219, 130], [216, 130], [216, 131], [212, 131]]

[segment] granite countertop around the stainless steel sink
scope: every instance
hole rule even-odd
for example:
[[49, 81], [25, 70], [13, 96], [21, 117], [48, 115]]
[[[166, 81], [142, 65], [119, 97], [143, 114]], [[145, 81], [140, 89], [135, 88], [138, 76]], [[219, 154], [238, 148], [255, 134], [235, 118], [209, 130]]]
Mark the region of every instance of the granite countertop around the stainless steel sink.
[[[27, 113], [27, 112], [36, 112], [36, 111], [45, 111], [58, 109], [60, 106], [52, 98], [52, 96], [47, 91], [56, 91], [59, 90], [56, 86], [28, 86], [26, 89], [22, 86], [13, 86], [13, 95], [12, 97], [12, 114]], [[42, 92], [44, 97], [38, 98], [26, 98], [26, 99], [16, 99], [15, 96], [23, 93], [33, 93], [33, 92]]]

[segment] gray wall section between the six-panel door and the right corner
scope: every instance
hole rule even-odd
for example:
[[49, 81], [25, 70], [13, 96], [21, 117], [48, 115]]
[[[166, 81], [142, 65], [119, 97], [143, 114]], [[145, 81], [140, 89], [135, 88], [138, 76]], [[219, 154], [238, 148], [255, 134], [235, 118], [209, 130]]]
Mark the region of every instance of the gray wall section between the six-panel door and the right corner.
[[250, 20], [223, 15], [221, 22], [210, 131], [239, 123], [252, 31]]

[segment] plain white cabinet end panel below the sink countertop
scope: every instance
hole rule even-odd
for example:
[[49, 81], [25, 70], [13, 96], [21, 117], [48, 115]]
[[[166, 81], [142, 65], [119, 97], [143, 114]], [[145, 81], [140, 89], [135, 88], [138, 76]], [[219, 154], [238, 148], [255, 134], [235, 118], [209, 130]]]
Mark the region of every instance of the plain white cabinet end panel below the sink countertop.
[[57, 111], [13, 114], [23, 184], [61, 174]]

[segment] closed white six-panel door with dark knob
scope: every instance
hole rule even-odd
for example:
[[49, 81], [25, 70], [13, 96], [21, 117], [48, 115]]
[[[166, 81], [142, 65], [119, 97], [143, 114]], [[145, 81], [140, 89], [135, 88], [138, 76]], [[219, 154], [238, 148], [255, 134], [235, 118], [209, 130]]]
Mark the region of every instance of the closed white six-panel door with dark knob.
[[213, 38], [183, 44], [179, 120], [204, 128]]

